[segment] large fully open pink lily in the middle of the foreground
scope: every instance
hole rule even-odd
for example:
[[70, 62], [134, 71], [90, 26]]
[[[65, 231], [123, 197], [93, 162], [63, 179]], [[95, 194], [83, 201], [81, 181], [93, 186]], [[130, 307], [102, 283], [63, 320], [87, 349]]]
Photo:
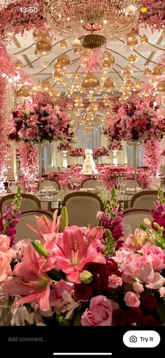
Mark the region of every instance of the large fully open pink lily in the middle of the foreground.
[[[96, 230], [96, 228], [94, 229]], [[89, 234], [88, 241], [87, 237], [83, 237], [78, 226], [66, 227], [63, 233], [63, 243], [61, 245], [57, 243], [54, 251], [56, 266], [67, 274], [69, 281], [76, 284], [81, 282], [79, 273], [86, 263], [106, 263], [103, 254], [96, 250], [96, 248], [101, 247], [101, 241], [98, 239], [90, 240], [91, 234]]]

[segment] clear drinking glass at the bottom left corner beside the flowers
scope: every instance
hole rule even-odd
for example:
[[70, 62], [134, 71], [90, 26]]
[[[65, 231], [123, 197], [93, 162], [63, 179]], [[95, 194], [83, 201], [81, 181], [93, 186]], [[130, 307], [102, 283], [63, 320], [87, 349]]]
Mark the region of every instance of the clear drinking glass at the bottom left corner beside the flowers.
[[0, 296], [0, 326], [24, 326], [22, 297]]

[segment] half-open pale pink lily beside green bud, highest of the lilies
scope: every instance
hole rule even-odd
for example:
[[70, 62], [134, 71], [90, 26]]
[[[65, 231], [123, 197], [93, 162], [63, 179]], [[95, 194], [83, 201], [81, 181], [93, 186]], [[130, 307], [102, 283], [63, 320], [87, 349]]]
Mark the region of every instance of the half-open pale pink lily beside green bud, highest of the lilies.
[[27, 224], [31, 230], [38, 234], [42, 244], [56, 239], [56, 234], [59, 232], [59, 225], [61, 220], [61, 216], [57, 218], [57, 213], [58, 211], [55, 210], [52, 223], [45, 215], [42, 215], [41, 218], [39, 216], [35, 216], [39, 231], [37, 231], [35, 227]]

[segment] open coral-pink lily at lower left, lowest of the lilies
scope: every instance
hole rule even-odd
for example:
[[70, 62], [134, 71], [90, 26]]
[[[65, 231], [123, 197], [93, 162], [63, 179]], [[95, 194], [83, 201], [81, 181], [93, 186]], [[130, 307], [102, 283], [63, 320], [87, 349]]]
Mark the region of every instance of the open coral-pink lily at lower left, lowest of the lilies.
[[15, 265], [16, 276], [3, 284], [6, 293], [24, 296], [23, 303], [36, 301], [43, 311], [50, 309], [49, 296], [52, 279], [46, 274], [55, 268], [55, 258], [41, 258], [30, 244], [24, 251], [22, 263]]

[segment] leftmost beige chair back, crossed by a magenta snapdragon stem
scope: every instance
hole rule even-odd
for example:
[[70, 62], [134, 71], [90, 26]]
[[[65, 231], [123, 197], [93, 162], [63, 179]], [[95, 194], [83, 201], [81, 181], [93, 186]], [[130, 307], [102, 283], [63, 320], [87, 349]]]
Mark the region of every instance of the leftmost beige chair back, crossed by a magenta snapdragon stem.
[[[10, 205], [14, 200], [15, 194], [8, 194], [0, 201], [1, 216], [6, 212], [5, 206]], [[38, 198], [31, 194], [22, 194], [22, 201], [20, 205], [20, 211], [29, 211], [41, 208], [41, 202]]]

